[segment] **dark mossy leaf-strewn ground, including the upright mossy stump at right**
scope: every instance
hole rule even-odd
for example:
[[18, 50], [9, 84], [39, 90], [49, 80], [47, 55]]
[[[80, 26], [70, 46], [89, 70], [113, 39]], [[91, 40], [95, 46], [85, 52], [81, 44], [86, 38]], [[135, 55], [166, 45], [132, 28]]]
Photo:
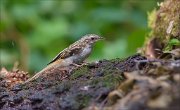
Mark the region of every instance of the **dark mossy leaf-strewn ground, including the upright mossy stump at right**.
[[0, 109], [179, 110], [180, 1], [149, 13], [151, 32], [140, 54], [44, 72], [0, 71]]

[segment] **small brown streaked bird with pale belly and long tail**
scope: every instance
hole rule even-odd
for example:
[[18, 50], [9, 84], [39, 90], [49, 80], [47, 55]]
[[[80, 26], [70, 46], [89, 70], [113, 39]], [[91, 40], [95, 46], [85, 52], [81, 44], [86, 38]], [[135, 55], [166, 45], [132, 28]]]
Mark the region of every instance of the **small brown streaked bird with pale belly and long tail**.
[[93, 45], [97, 41], [103, 39], [103, 37], [96, 34], [84, 35], [81, 39], [59, 52], [59, 54], [48, 63], [47, 67], [25, 81], [25, 83], [37, 79], [42, 73], [51, 68], [67, 67], [70, 65], [79, 66], [79, 64], [83, 63], [83, 61], [91, 54]]

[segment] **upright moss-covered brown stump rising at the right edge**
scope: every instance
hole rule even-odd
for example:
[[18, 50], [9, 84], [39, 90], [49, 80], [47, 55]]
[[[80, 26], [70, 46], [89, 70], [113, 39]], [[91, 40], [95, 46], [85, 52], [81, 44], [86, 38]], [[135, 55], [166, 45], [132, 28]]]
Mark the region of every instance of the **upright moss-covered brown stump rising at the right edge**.
[[157, 42], [159, 42], [159, 45], [162, 45], [162, 48], [160, 48], [162, 52], [167, 50], [167, 48], [173, 49], [168, 47], [172, 39], [180, 39], [180, 0], [165, 0], [159, 6], [159, 10], [156, 11], [154, 9], [148, 13], [148, 26], [151, 31], [147, 36], [142, 51], [146, 56], [148, 56], [147, 48], [149, 45], [152, 45], [149, 42], [153, 39], [158, 39]]

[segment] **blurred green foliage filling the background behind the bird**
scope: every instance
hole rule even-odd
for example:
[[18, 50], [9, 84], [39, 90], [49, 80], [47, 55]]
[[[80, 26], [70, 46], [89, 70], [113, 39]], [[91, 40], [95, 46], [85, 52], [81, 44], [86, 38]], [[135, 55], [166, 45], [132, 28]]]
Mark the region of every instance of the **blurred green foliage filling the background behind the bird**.
[[122, 58], [136, 52], [147, 34], [147, 12], [160, 0], [0, 0], [0, 63], [15, 61], [31, 71], [94, 33], [98, 42], [88, 61]]

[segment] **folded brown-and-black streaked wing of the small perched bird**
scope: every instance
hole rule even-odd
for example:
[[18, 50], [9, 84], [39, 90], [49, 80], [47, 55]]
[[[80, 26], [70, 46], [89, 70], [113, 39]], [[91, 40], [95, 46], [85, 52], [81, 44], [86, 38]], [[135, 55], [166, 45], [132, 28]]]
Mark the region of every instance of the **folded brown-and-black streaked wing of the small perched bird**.
[[48, 65], [55, 62], [57, 59], [65, 59], [69, 56], [78, 54], [80, 51], [82, 51], [82, 48], [76, 45], [72, 45], [69, 48], [66, 48], [63, 51], [61, 51], [56, 57], [54, 57], [54, 59], [51, 62], [48, 63]]

